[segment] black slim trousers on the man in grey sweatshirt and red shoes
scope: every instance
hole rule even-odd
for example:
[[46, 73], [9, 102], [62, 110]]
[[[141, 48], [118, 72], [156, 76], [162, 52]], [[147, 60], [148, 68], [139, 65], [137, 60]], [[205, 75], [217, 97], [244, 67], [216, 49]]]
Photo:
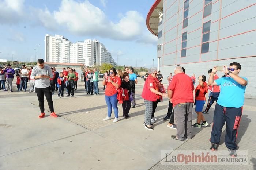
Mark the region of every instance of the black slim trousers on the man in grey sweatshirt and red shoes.
[[53, 101], [52, 101], [52, 87], [46, 87], [46, 88], [35, 88], [35, 92], [37, 93], [37, 98], [39, 101], [39, 108], [41, 113], [45, 112], [45, 104], [44, 104], [44, 96], [47, 100], [47, 103], [49, 105], [50, 112], [54, 112], [53, 109]]

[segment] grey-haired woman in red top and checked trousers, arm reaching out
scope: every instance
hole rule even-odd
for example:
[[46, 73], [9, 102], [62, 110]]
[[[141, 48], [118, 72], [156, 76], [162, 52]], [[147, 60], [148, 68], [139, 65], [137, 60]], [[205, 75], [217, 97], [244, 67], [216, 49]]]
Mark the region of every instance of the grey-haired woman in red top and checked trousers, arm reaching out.
[[154, 128], [151, 127], [151, 117], [153, 110], [155, 109], [154, 106], [157, 107], [160, 96], [167, 97], [167, 94], [159, 92], [158, 79], [156, 78], [157, 68], [152, 67], [148, 72], [149, 74], [141, 94], [141, 97], [144, 98], [144, 104], [146, 107], [143, 124], [146, 129], [153, 130]]

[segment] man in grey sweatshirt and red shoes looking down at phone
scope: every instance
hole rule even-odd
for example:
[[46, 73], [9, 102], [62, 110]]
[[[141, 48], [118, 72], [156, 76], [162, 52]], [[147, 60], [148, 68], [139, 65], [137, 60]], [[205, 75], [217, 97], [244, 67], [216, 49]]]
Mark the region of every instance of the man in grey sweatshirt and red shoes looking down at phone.
[[52, 70], [50, 67], [45, 66], [43, 59], [38, 59], [37, 64], [38, 65], [33, 68], [30, 77], [35, 80], [35, 92], [37, 93], [39, 108], [41, 110], [41, 115], [38, 118], [45, 116], [44, 95], [49, 105], [50, 116], [58, 117], [53, 109], [52, 88], [50, 85], [50, 78], [53, 78]]

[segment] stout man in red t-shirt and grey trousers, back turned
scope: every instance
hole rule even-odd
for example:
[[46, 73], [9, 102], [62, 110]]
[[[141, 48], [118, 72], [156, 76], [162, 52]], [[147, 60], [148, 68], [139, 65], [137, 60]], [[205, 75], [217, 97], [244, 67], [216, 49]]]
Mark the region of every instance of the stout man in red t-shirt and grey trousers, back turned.
[[194, 103], [194, 85], [191, 78], [183, 73], [181, 66], [176, 66], [170, 85], [168, 96], [174, 107], [174, 119], [177, 125], [177, 134], [171, 137], [176, 140], [191, 139], [192, 108]]

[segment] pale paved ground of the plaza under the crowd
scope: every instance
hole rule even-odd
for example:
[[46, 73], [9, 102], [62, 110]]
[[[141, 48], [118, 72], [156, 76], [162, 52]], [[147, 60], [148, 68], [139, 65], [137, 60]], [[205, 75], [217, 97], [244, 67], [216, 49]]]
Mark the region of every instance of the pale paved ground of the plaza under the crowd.
[[[107, 111], [102, 88], [99, 96], [88, 96], [82, 82], [72, 98], [57, 98], [54, 94], [54, 109], [61, 116], [56, 119], [37, 118], [39, 108], [34, 93], [0, 92], [0, 169], [256, 169], [253, 148], [256, 125], [252, 124], [256, 119], [256, 100], [253, 99], [245, 101], [238, 135], [240, 150], [249, 150], [248, 166], [161, 165], [161, 150], [208, 150], [211, 127], [193, 128], [195, 136], [191, 140], [171, 139], [170, 135], [176, 131], [167, 128], [167, 122], [161, 119], [167, 113], [168, 100], [165, 99], [155, 113], [159, 118], [154, 124], [155, 130], [146, 130], [144, 104], [139, 95], [143, 82], [141, 78], [136, 85], [137, 105], [131, 108], [131, 117], [123, 119], [119, 105], [117, 123], [113, 123], [113, 119], [102, 121]], [[48, 110], [47, 104], [45, 108]], [[213, 109], [206, 115], [209, 123], [212, 116]], [[195, 121], [196, 114], [193, 114], [192, 123]], [[219, 149], [226, 150], [225, 144]]]

